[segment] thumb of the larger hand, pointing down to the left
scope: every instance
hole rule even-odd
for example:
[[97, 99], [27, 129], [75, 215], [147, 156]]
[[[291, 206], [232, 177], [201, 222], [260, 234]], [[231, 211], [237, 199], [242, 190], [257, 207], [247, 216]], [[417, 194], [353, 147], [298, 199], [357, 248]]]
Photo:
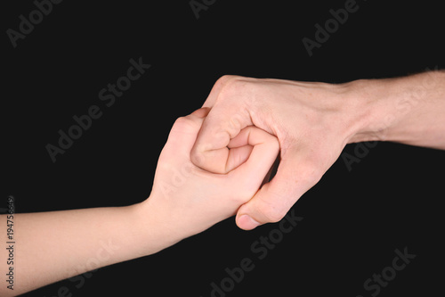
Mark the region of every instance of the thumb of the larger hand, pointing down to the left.
[[236, 222], [244, 230], [278, 222], [322, 176], [315, 161], [297, 150], [282, 153], [277, 174], [252, 199], [241, 205]]

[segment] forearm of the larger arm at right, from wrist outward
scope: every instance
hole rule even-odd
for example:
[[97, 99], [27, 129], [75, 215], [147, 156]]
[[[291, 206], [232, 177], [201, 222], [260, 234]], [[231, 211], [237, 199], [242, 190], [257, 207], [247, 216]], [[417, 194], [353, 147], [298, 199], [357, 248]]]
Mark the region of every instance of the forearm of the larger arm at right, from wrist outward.
[[445, 149], [445, 71], [350, 83], [366, 120], [350, 143], [369, 140]]

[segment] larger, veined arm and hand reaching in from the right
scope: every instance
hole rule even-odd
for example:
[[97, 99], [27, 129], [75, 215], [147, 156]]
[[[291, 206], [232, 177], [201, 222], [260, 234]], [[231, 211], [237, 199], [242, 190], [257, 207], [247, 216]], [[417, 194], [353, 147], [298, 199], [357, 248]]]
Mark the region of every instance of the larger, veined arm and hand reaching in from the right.
[[280, 162], [270, 183], [237, 213], [249, 230], [278, 222], [336, 161], [346, 144], [392, 141], [445, 149], [445, 72], [344, 84], [224, 76], [203, 106], [212, 107], [191, 160], [215, 173], [215, 162], [242, 128], [277, 136]]

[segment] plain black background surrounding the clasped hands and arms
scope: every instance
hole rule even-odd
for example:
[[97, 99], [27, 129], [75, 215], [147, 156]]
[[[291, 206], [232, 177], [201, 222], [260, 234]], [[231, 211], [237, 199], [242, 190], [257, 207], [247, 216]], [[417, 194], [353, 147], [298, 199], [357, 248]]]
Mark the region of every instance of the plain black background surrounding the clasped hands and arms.
[[[36, 6], [5, 2], [4, 203], [12, 194], [18, 212], [33, 212], [141, 202], [174, 120], [199, 108], [224, 74], [341, 83], [445, 66], [445, 22], [434, 1], [358, 1], [310, 57], [302, 38], [313, 39], [314, 25], [344, 2], [216, 1], [197, 19], [189, 1], [63, 1], [16, 48], [5, 32]], [[99, 91], [139, 57], [150, 70], [106, 107]], [[91, 105], [103, 115], [53, 163], [45, 145]], [[441, 151], [379, 143], [351, 171], [336, 161], [295, 204], [303, 221], [264, 260], [250, 245], [276, 225], [245, 232], [228, 219], [158, 254], [101, 268], [80, 288], [64, 280], [27, 295], [66, 286], [73, 296], [205, 297], [224, 268], [250, 258], [255, 269], [227, 296], [365, 297], [364, 281], [404, 247], [417, 258], [379, 296], [441, 293], [444, 165]]]

